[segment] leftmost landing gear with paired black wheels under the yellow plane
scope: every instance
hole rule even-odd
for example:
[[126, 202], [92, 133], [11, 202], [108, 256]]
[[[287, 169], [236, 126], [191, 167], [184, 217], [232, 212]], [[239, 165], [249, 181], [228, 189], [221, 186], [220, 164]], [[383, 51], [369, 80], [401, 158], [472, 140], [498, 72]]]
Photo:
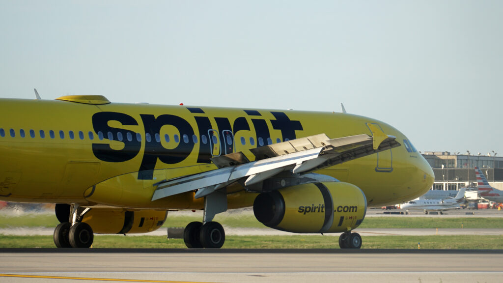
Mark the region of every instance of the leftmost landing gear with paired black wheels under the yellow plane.
[[[56, 217], [61, 222], [54, 229], [54, 244], [58, 248], [89, 248], [94, 233], [89, 224], [80, 222], [90, 208], [69, 204], [56, 204]], [[68, 221], [68, 222], [67, 222]]]

